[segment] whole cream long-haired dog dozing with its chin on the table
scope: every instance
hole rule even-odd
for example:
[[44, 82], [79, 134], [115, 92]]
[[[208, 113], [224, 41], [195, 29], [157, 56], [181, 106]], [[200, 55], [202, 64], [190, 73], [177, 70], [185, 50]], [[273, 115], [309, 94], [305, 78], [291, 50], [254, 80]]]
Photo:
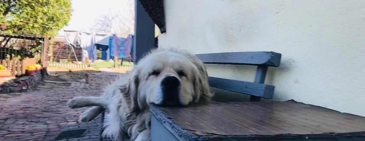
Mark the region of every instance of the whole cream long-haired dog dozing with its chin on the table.
[[100, 97], [73, 97], [67, 105], [92, 106], [80, 115], [85, 122], [108, 109], [103, 136], [149, 141], [150, 104], [186, 106], [208, 102], [211, 97], [205, 66], [195, 55], [181, 49], [159, 48], [106, 86]]

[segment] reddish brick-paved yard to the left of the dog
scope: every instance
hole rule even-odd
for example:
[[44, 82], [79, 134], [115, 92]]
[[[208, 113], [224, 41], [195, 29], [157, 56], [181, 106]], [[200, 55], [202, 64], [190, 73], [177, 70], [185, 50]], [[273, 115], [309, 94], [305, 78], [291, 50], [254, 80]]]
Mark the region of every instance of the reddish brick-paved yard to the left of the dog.
[[100, 74], [83, 73], [87, 81], [74, 84], [44, 82], [38, 90], [0, 94], [0, 141], [53, 141], [62, 131], [73, 129], [88, 130], [84, 137], [59, 141], [98, 141], [99, 116], [90, 122], [80, 122], [78, 116], [87, 108], [70, 109], [66, 102], [73, 96], [100, 95], [104, 85], [118, 73]]

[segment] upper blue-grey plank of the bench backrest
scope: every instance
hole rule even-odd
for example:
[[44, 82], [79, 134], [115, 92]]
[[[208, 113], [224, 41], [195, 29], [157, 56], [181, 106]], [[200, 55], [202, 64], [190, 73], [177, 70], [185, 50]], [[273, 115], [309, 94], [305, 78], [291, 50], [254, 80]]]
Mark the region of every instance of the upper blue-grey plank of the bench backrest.
[[281, 54], [276, 52], [228, 52], [196, 55], [205, 64], [263, 65], [278, 67]]

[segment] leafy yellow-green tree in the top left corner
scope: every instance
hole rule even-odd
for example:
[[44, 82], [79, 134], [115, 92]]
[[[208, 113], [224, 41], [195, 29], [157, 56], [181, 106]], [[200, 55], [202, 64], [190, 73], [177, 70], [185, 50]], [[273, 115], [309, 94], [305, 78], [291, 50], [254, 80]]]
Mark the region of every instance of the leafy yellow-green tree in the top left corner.
[[70, 0], [0, 0], [0, 24], [6, 34], [54, 37], [71, 18]]

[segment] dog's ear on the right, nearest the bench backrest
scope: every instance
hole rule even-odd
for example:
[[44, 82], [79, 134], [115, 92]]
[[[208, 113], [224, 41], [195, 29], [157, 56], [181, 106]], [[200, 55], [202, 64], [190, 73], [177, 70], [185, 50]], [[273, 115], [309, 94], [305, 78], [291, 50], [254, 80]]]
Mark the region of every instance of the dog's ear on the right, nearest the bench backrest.
[[194, 78], [194, 100], [195, 102], [209, 102], [212, 97], [212, 93], [210, 92], [209, 83], [208, 83], [208, 74], [205, 71], [205, 67], [202, 67], [204, 70], [196, 70], [195, 78]]

